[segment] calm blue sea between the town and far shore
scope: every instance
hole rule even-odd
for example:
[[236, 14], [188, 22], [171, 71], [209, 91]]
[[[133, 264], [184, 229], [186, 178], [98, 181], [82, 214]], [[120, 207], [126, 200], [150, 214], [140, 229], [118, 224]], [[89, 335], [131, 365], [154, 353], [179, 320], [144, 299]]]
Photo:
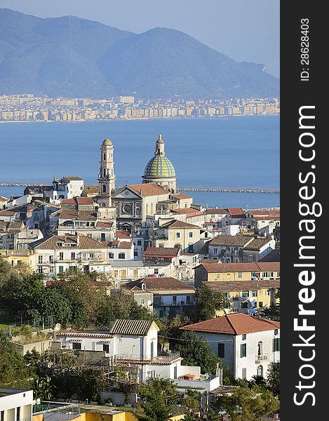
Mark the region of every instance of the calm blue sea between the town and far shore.
[[[116, 185], [142, 182], [161, 134], [177, 186], [278, 189], [280, 117], [149, 119], [93, 122], [1, 123], [0, 182], [51, 182], [79, 175], [97, 184], [100, 145], [114, 145]], [[22, 194], [0, 186], [0, 195]], [[280, 206], [278, 193], [186, 192], [194, 203], [220, 208]]]

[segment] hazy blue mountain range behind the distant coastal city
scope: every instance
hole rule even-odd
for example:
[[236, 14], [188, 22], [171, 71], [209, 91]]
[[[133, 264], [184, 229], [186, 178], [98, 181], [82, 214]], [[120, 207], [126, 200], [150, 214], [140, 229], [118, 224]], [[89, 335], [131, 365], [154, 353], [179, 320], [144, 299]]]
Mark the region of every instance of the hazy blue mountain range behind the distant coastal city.
[[263, 67], [235, 62], [174, 29], [134, 34], [74, 16], [0, 9], [0, 95], [278, 96], [278, 79]]

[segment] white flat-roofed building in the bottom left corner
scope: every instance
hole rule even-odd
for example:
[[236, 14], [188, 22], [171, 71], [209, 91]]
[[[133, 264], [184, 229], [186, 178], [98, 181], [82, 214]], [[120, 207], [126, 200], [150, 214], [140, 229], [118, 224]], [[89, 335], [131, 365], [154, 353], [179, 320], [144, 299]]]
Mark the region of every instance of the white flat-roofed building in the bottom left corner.
[[32, 421], [33, 390], [0, 389], [1, 421]]

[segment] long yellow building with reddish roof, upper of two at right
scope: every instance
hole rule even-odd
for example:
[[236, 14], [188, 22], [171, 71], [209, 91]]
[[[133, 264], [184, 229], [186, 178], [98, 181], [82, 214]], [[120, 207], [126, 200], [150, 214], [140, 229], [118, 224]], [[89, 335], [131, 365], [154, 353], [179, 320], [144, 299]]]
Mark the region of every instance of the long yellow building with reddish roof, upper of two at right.
[[207, 281], [280, 279], [280, 262], [202, 263], [195, 269], [195, 286]]

